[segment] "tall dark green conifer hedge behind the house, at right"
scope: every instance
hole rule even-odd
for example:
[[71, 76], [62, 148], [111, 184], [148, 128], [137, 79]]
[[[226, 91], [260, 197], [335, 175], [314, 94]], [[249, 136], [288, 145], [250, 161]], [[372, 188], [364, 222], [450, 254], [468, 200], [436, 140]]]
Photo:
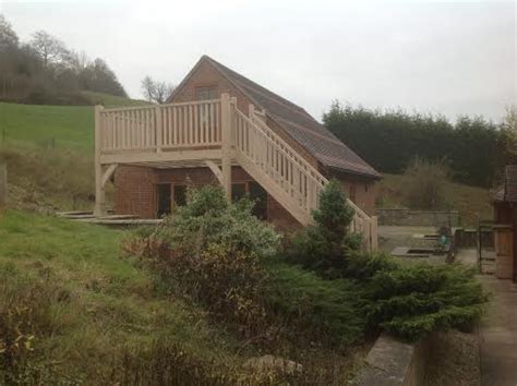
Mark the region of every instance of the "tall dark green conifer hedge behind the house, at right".
[[458, 182], [493, 186], [504, 165], [515, 160], [510, 143], [515, 108], [496, 124], [482, 117], [459, 117], [450, 123], [442, 116], [381, 111], [334, 101], [323, 122], [375, 169], [401, 173], [416, 157], [440, 160]]

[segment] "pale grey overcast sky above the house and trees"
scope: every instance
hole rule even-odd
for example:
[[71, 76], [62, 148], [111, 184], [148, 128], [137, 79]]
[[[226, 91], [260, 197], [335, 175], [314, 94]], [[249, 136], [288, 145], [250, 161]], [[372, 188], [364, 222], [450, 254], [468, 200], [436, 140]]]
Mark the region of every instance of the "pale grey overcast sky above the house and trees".
[[145, 75], [178, 84], [206, 53], [304, 107], [483, 114], [516, 102], [515, 2], [9, 1], [22, 40], [46, 29], [104, 58], [131, 97]]

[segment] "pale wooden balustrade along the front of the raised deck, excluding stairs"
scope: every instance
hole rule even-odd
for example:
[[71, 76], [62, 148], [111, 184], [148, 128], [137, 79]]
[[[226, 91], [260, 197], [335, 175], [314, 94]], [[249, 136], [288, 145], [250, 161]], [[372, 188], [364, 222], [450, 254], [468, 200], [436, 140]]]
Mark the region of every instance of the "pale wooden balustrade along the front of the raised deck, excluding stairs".
[[104, 154], [218, 146], [221, 142], [218, 99], [101, 109], [99, 114]]

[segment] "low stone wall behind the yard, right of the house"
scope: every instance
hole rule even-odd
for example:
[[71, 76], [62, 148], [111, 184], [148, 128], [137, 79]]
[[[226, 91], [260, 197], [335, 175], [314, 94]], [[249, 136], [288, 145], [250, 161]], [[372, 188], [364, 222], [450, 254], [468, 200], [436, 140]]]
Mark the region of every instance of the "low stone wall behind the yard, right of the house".
[[409, 209], [376, 209], [380, 226], [459, 227], [456, 210], [431, 212]]

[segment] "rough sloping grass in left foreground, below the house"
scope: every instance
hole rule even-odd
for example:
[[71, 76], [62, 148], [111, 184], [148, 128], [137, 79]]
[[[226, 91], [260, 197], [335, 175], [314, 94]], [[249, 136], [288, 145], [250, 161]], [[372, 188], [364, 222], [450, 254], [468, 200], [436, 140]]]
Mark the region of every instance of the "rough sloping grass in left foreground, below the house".
[[26, 328], [34, 329], [34, 351], [26, 354], [34, 365], [69, 375], [73, 369], [76, 381], [108, 377], [125, 349], [144, 352], [159, 339], [200, 359], [231, 361], [232, 339], [201, 310], [161, 293], [145, 272], [118, 257], [122, 237], [47, 216], [9, 212], [2, 218], [0, 315], [27, 307], [31, 315], [20, 316], [33, 324]]

